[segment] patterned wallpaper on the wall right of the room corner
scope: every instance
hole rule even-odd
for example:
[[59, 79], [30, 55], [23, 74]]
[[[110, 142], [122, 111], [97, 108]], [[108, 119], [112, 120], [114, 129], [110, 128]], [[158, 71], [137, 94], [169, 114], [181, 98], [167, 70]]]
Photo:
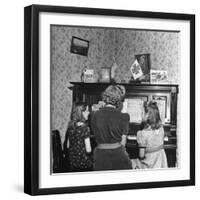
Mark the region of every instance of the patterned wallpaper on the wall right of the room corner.
[[134, 55], [150, 53], [151, 69], [167, 70], [170, 83], [178, 83], [178, 33], [155, 31], [116, 31], [117, 80], [130, 78]]

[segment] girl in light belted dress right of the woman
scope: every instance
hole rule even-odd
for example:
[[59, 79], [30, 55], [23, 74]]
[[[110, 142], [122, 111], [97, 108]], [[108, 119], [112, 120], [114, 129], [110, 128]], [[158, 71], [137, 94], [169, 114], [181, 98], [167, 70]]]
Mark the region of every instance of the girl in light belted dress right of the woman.
[[137, 132], [139, 159], [132, 160], [133, 169], [167, 168], [164, 129], [156, 102], [150, 101], [144, 117], [145, 127]]

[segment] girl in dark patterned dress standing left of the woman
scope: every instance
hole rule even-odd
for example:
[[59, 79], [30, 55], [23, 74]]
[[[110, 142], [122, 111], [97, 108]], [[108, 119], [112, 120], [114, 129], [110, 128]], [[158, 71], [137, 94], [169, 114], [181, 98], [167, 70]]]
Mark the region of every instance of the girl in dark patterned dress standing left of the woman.
[[90, 128], [87, 124], [88, 106], [76, 104], [72, 108], [67, 129], [67, 148], [70, 171], [89, 171], [93, 168], [90, 144]]

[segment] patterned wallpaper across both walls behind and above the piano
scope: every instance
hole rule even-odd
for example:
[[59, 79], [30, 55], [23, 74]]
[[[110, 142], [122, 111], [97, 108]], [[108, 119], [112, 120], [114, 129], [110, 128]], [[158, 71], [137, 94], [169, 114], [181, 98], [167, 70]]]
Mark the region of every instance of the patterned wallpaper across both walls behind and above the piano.
[[[88, 56], [70, 53], [72, 36], [89, 40]], [[115, 79], [128, 81], [135, 54], [150, 53], [151, 68], [167, 70], [170, 83], [179, 83], [179, 33], [108, 28], [51, 26], [52, 129], [58, 129], [62, 142], [71, 112], [70, 81], [80, 81], [84, 66], [118, 68]]]

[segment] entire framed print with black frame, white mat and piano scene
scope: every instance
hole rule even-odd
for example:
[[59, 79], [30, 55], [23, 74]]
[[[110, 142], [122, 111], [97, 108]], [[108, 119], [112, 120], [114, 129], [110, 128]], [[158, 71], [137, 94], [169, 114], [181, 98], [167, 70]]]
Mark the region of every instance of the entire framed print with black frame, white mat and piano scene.
[[[193, 14], [31, 5], [24, 16], [25, 193], [195, 184]], [[148, 67], [151, 55], [167, 84], [131, 83], [134, 55]], [[113, 63], [115, 82], [99, 81]], [[85, 67], [96, 81], [81, 81]]]

